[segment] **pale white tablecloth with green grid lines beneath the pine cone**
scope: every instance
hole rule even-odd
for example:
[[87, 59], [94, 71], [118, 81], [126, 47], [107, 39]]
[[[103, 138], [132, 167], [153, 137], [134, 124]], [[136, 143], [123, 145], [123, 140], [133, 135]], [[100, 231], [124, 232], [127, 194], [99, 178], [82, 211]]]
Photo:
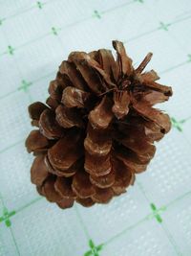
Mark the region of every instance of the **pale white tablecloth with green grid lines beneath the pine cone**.
[[[174, 96], [160, 105], [173, 128], [147, 172], [108, 205], [62, 211], [30, 181], [27, 106], [74, 50], [125, 43], [135, 66], [148, 52]], [[0, 255], [191, 255], [191, 1], [0, 0]]]

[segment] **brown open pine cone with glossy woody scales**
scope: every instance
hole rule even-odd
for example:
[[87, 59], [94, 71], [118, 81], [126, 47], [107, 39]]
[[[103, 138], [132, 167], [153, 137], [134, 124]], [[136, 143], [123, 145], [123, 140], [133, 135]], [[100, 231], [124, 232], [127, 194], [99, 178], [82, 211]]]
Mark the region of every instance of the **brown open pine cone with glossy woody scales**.
[[159, 141], [171, 128], [169, 116], [153, 107], [167, 101], [171, 87], [154, 70], [138, 68], [120, 41], [110, 50], [73, 52], [49, 86], [46, 104], [29, 106], [33, 152], [32, 183], [61, 208], [107, 203], [124, 193], [146, 170]]

